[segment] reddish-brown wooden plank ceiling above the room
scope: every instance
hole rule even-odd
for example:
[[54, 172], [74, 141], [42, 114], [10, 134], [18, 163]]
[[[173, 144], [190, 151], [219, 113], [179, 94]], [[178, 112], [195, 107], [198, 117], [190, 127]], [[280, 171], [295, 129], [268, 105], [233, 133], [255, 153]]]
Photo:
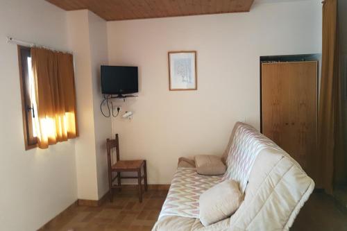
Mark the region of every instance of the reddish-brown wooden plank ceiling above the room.
[[248, 12], [254, 0], [46, 0], [64, 10], [88, 9], [107, 21]]

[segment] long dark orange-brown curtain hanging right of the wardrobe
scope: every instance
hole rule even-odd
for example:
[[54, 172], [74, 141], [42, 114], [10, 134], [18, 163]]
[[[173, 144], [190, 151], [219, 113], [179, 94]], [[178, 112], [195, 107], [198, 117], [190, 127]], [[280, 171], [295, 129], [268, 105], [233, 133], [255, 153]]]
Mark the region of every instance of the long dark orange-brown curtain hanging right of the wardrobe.
[[341, 78], [339, 75], [339, 37], [337, 0], [323, 2], [323, 46], [321, 91], [319, 97], [318, 151], [319, 182], [317, 187], [332, 194], [335, 160], [344, 155], [339, 150], [341, 132]]

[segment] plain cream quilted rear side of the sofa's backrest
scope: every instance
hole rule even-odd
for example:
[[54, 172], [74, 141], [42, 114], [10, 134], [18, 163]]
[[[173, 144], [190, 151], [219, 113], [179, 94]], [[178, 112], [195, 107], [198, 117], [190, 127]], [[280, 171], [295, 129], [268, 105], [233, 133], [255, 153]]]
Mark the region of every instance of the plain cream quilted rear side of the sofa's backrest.
[[230, 218], [230, 230], [289, 230], [313, 189], [313, 180], [287, 153], [264, 149], [251, 169], [244, 202]]

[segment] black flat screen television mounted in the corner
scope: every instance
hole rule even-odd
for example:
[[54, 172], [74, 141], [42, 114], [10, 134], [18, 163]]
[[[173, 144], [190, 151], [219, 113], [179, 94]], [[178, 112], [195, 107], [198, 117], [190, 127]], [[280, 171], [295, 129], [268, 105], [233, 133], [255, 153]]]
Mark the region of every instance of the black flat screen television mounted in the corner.
[[101, 66], [103, 94], [132, 94], [139, 91], [137, 67]]

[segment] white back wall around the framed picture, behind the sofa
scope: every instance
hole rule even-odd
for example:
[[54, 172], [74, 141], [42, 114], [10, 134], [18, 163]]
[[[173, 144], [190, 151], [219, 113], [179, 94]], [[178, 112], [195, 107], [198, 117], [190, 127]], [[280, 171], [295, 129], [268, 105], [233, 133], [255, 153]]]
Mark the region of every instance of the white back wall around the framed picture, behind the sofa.
[[[149, 183], [178, 157], [221, 154], [236, 121], [260, 127], [260, 56], [321, 53], [321, 1], [255, 3], [251, 12], [108, 22], [110, 65], [139, 67], [139, 97], [114, 119], [121, 158], [146, 158]], [[170, 92], [168, 51], [196, 50], [198, 90]]]

